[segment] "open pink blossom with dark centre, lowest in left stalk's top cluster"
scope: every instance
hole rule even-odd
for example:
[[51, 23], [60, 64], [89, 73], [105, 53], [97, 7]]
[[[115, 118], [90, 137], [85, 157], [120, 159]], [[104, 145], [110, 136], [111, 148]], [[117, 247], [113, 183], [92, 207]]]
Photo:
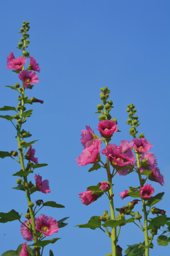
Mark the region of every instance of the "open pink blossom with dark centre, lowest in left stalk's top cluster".
[[24, 82], [26, 88], [28, 88], [28, 84], [39, 82], [38, 76], [34, 71], [23, 70], [18, 76]]

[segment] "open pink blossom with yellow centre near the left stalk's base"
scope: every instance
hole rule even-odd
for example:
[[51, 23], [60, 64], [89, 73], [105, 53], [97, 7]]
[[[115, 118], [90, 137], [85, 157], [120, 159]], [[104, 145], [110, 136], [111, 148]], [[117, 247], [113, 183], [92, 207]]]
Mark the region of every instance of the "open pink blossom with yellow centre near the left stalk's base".
[[57, 221], [54, 218], [48, 217], [44, 214], [41, 214], [37, 218], [36, 229], [38, 232], [42, 232], [44, 236], [51, 236], [59, 231]]

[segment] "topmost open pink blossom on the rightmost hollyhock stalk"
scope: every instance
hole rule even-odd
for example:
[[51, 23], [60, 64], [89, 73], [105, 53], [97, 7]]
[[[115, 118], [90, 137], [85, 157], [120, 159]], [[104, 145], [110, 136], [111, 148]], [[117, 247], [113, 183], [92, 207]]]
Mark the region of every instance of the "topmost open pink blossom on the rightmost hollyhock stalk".
[[149, 141], [146, 141], [145, 138], [134, 138], [132, 141], [134, 142], [133, 148], [139, 153], [146, 153], [153, 147], [153, 145]]

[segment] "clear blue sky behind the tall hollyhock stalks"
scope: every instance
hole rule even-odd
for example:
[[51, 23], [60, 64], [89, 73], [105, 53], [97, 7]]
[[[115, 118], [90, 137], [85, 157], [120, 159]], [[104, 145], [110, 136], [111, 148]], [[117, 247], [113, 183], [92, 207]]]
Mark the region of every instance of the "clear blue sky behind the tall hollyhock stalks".
[[[78, 167], [76, 157], [82, 152], [81, 130], [85, 125], [95, 129], [98, 125], [96, 105], [100, 103], [100, 87], [111, 89], [111, 112], [118, 120], [121, 133], [113, 136], [113, 143], [131, 140], [127, 120], [127, 104], [136, 105], [142, 124], [139, 133], [144, 133], [153, 144], [151, 151], [156, 155], [165, 185], [150, 182], [155, 195], [165, 191], [164, 199], [157, 207], [170, 216], [170, 2], [168, 0], [30, 0], [1, 1], [0, 8], [0, 105], [17, 106], [17, 93], [5, 85], [19, 82], [17, 74], [7, 70], [6, 57], [16, 49], [20, 41], [23, 20], [30, 22], [30, 44], [28, 51], [40, 64], [40, 82], [32, 90], [32, 96], [44, 100], [44, 104], [33, 105], [33, 115], [23, 127], [30, 131], [39, 163], [47, 167], [37, 169], [42, 179], [48, 179], [51, 193], [36, 192], [32, 201], [56, 201], [64, 209], [44, 207], [43, 214], [57, 220], [70, 216], [68, 226], [52, 237], [60, 237], [49, 249], [54, 256], [105, 256], [111, 252], [111, 241], [101, 230], [80, 229], [77, 224], [87, 223], [93, 215], [102, 215], [109, 210], [105, 196], [85, 206], [78, 193], [88, 186], [107, 179], [103, 170], [88, 173], [92, 165]], [[31, 109], [32, 106], [27, 106]], [[7, 114], [7, 113], [2, 113]], [[10, 113], [8, 113], [10, 114]], [[0, 119], [0, 150], [17, 150], [15, 130], [9, 121]], [[105, 158], [102, 158], [105, 161]], [[23, 216], [27, 210], [24, 192], [11, 189], [16, 186], [12, 176], [20, 166], [8, 158], [0, 160], [0, 212], [15, 209]], [[34, 175], [29, 176], [34, 183]], [[128, 186], [138, 186], [135, 174], [125, 177], [116, 175], [113, 180], [115, 207], [122, 207], [119, 192]], [[132, 201], [131, 200], [131, 201]], [[141, 204], [135, 210], [141, 209]], [[153, 217], [153, 215], [150, 217]], [[23, 218], [24, 220], [24, 218]], [[142, 219], [143, 220], [143, 219]], [[16, 250], [24, 242], [17, 221], [0, 224], [0, 255], [6, 250]], [[144, 241], [141, 230], [134, 224], [121, 229], [118, 244]], [[170, 246], [157, 245], [150, 256], [168, 255]], [[123, 254], [125, 255], [125, 253]]]

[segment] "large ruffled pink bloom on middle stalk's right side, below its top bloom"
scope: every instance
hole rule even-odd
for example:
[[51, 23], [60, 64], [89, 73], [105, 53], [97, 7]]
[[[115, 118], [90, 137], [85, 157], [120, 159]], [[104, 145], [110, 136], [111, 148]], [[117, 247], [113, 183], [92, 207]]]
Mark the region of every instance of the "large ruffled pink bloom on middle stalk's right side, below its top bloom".
[[[120, 146], [115, 144], [109, 144], [102, 150], [102, 154], [105, 154], [110, 160], [114, 168], [121, 166], [133, 165], [135, 157], [132, 152], [133, 143], [127, 141], [121, 141]], [[123, 153], [122, 153], [123, 152]], [[124, 169], [118, 172], [118, 175], [127, 175], [130, 168]]]

